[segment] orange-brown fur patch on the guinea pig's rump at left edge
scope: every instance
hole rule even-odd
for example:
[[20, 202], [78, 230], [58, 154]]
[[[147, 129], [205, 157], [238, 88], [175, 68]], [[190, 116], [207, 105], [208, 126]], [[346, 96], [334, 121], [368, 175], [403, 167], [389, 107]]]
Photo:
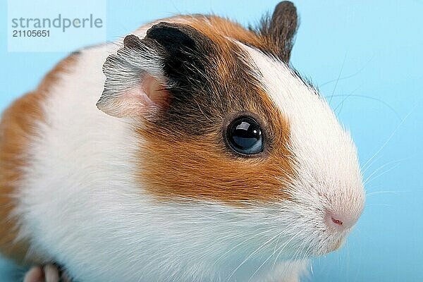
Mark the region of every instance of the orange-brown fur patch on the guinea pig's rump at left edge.
[[51, 85], [57, 82], [59, 74], [66, 72], [76, 56], [61, 61], [37, 90], [25, 94], [9, 106], [0, 123], [0, 252], [20, 264], [40, 262], [36, 255], [27, 256], [30, 244], [27, 240], [17, 241], [20, 228], [19, 219], [11, 212], [16, 206], [14, 193], [23, 178], [23, 168], [30, 157], [27, 148], [30, 137], [36, 135], [35, 124], [43, 121], [42, 102], [47, 97]]

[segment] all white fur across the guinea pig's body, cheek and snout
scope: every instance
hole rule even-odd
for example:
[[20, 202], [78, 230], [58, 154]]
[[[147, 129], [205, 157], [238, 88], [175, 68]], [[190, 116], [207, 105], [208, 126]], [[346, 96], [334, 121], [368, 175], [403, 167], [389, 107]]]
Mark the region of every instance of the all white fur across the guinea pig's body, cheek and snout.
[[326, 230], [324, 211], [358, 216], [362, 209], [353, 143], [326, 103], [283, 63], [243, 48], [290, 119], [301, 174], [292, 188], [298, 204], [231, 207], [146, 195], [135, 180], [142, 140], [130, 121], [96, 107], [109, 44], [82, 50], [44, 106], [47, 123], [38, 125], [16, 209], [25, 226], [21, 235], [34, 250], [81, 282], [295, 282], [307, 257], [331, 250], [343, 235]]

